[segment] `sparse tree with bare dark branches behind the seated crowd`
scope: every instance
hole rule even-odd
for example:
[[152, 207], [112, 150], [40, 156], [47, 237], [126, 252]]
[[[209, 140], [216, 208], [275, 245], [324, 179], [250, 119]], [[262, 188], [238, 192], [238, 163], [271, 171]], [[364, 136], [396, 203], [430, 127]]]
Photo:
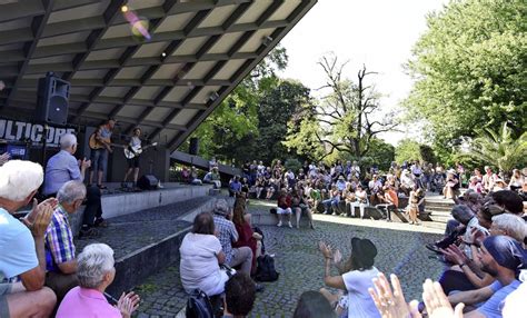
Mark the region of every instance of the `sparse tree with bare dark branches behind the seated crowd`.
[[[326, 85], [321, 89], [327, 93], [306, 116], [300, 129], [289, 131], [285, 145], [296, 148], [299, 153], [311, 149], [318, 155], [324, 149], [319, 160], [335, 151], [361, 158], [368, 153], [378, 133], [392, 130], [398, 125], [394, 113], [379, 116], [380, 95], [367, 81], [376, 72], [362, 67], [357, 72], [357, 82], [352, 82], [344, 78], [346, 62], [339, 63], [337, 57], [325, 56], [319, 66], [326, 76]], [[380, 119], [374, 119], [376, 116]], [[296, 133], [307, 139], [298, 138]], [[318, 140], [319, 147], [314, 147], [315, 140]]]

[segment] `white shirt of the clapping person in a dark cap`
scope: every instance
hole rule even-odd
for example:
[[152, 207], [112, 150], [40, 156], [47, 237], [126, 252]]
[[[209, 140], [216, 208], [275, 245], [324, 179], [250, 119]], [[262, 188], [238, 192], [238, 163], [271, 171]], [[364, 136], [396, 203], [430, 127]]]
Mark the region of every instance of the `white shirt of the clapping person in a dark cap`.
[[367, 270], [351, 270], [342, 275], [344, 284], [348, 290], [348, 318], [379, 317], [368, 288], [374, 287], [371, 279], [376, 278], [379, 270], [375, 267]]

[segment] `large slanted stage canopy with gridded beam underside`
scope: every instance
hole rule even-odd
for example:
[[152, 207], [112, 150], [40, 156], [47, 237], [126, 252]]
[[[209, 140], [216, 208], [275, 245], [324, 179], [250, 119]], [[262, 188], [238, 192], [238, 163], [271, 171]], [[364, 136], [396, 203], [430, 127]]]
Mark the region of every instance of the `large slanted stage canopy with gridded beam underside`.
[[70, 123], [113, 117], [176, 149], [316, 2], [0, 0], [0, 116], [33, 119], [52, 71]]

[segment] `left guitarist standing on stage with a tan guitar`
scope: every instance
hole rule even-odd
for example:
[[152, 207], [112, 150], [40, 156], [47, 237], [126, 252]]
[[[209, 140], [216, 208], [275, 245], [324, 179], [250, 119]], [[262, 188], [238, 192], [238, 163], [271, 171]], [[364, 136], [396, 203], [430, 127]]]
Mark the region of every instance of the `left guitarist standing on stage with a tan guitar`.
[[106, 172], [108, 167], [108, 153], [112, 152], [111, 149], [111, 132], [116, 126], [116, 120], [110, 118], [103, 125], [99, 126], [96, 131], [96, 140], [103, 147], [100, 149], [91, 149], [91, 170], [90, 170], [90, 185], [93, 183], [93, 172], [97, 171], [97, 187], [99, 189], [106, 189], [102, 186], [102, 175]]

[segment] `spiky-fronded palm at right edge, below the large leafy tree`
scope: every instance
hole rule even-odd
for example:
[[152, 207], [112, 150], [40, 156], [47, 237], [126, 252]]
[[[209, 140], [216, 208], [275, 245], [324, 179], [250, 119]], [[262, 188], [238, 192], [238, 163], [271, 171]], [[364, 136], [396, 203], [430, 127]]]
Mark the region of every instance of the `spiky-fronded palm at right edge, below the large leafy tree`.
[[507, 173], [527, 163], [527, 132], [515, 139], [507, 123], [499, 131], [486, 128], [478, 132], [479, 136], [470, 142], [469, 151], [464, 156], [498, 167]]

